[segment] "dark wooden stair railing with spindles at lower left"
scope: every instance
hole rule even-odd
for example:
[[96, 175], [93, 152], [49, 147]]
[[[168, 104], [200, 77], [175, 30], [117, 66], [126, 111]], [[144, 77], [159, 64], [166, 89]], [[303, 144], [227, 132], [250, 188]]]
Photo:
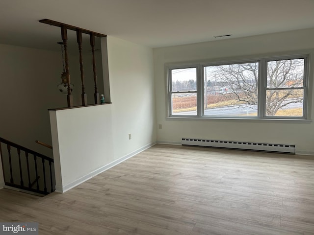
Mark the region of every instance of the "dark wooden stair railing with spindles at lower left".
[[45, 195], [55, 190], [52, 158], [3, 138], [0, 138], [0, 156], [6, 186]]

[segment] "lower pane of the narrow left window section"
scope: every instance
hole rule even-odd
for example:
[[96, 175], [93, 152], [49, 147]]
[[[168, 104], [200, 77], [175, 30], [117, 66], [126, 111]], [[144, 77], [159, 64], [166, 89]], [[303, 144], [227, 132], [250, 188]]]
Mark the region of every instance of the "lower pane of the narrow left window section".
[[196, 93], [172, 94], [173, 115], [196, 115]]

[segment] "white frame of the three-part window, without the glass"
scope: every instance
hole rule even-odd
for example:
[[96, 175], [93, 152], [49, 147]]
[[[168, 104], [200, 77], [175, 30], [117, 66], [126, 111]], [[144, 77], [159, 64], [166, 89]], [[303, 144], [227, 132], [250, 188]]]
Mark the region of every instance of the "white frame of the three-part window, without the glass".
[[[304, 59], [303, 71], [303, 87], [293, 89], [303, 89], [303, 115], [301, 116], [266, 116], [266, 92], [270, 90], [267, 88], [267, 62], [277, 60], [293, 60]], [[205, 116], [204, 115], [204, 68], [208, 66], [231, 65], [243, 63], [259, 63], [259, 79], [258, 79], [258, 109], [257, 116]], [[310, 67], [310, 53], [302, 54], [288, 54], [282, 56], [260, 57], [241, 60], [220, 60], [202, 63], [182, 63], [176, 65], [165, 65], [166, 79], [167, 79], [167, 118], [199, 118], [199, 119], [276, 119], [276, 120], [308, 120], [308, 104], [309, 104], [309, 67]], [[171, 71], [174, 69], [197, 69], [197, 114], [196, 115], [175, 115], [172, 114], [172, 78]], [[290, 90], [291, 88], [279, 88], [278, 90]], [[271, 89], [273, 90], [273, 89]], [[189, 92], [179, 92], [189, 93]], [[192, 93], [195, 93], [193, 91]]]

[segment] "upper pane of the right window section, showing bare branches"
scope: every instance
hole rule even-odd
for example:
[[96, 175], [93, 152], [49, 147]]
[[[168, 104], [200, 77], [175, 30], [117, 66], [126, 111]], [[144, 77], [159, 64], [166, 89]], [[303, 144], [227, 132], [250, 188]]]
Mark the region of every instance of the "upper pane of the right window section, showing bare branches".
[[303, 87], [304, 59], [267, 62], [267, 88]]

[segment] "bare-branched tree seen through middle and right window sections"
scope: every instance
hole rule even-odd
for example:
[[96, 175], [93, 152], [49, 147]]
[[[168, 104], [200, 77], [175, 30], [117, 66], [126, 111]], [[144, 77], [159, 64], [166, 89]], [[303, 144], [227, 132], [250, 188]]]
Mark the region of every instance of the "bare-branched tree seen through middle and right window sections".
[[[206, 70], [210, 84], [228, 91], [223, 95], [232, 94], [248, 107], [258, 104], [258, 62], [209, 66]], [[303, 102], [304, 59], [268, 61], [266, 75], [266, 116], [276, 115], [288, 104]]]

